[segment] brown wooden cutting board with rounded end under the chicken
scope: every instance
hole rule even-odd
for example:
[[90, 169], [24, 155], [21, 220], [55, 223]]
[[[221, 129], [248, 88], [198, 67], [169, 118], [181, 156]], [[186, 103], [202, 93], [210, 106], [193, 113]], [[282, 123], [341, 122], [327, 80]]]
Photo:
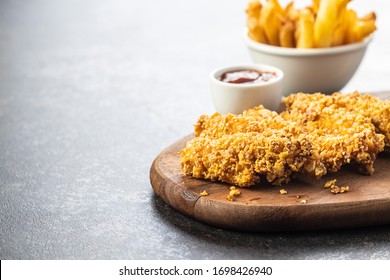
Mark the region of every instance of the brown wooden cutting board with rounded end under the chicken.
[[[390, 93], [381, 93], [390, 97]], [[266, 182], [240, 188], [234, 201], [226, 199], [231, 185], [195, 179], [181, 172], [178, 152], [189, 135], [172, 144], [154, 160], [150, 181], [154, 192], [176, 210], [220, 228], [243, 231], [297, 231], [351, 228], [390, 223], [390, 153], [375, 161], [371, 176], [356, 166], [345, 166], [319, 180], [301, 176], [283, 187]], [[333, 194], [325, 182], [337, 179], [350, 191]], [[284, 188], [287, 194], [280, 194]], [[201, 196], [202, 191], [208, 193]], [[302, 203], [306, 200], [306, 203]]]

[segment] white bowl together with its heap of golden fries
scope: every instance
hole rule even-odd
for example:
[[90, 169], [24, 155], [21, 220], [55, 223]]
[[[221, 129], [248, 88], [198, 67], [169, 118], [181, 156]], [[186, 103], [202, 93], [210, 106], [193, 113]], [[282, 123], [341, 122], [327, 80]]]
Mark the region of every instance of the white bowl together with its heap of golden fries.
[[376, 30], [376, 15], [363, 17], [349, 0], [313, 0], [282, 7], [278, 0], [251, 0], [244, 41], [255, 63], [284, 72], [283, 94], [333, 93], [359, 68]]

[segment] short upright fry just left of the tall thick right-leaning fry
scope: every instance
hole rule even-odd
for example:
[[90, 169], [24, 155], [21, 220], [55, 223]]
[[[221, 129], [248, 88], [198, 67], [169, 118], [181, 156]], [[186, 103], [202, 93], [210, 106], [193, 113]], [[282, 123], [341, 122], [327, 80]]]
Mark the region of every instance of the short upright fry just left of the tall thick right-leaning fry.
[[314, 47], [314, 14], [309, 9], [302, 9], [299, 13], [295, 39], [297, 48]]

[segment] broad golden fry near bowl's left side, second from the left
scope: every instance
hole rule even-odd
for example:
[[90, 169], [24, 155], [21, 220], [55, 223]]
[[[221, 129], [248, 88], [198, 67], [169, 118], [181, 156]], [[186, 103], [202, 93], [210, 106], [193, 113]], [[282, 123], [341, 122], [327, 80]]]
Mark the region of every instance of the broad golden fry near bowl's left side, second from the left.
[[279, 31], [281, 23], [278, 15], [283, 14], [283, 9], [278, 0], [267, 0], [260, 12], [260, 26], [264, 29], [269, 44], [279, 46]]

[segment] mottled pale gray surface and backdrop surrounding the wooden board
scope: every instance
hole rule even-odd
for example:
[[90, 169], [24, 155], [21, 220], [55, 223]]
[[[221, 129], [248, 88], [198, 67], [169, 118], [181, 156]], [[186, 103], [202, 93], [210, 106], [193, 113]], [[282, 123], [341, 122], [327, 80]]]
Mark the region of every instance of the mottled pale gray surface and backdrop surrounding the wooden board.
[[[0, 2], [0, 259], [390, 259], [388, 225], [226, 231], [154, 195], [153, 159], [214, 110], [209, 72], [250, 62], [245, 6]], [[346, 90], [390, 89], [389, 4], [361, 6], [379, 30]]]

